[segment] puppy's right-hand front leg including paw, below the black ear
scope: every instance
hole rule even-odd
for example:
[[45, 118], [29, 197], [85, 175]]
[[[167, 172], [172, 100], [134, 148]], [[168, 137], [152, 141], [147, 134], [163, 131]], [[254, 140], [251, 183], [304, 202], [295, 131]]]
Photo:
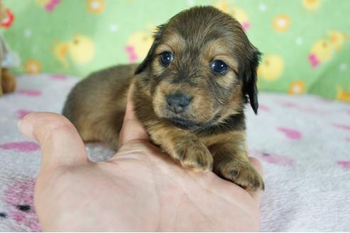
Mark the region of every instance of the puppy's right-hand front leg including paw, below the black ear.
[[249, 162], [243, 132], [232, 132], [226, 140], [210, 146], [210, 151], [217, 175], [248, 191], [264, 189], [263, 178]]

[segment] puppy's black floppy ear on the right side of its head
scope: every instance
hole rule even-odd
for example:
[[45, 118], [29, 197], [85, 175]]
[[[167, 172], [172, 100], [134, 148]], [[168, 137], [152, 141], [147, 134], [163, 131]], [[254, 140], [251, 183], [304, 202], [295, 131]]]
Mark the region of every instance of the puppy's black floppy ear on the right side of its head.
[[252, 106], [255, 114], [258, 114], [258, 88], [257, 82], [257, 69], [260, 62], [261, 53], [253, 45], [250, 45], [247, 60], [243, 67], [243, 94], [245, 98], [249, 97], [250, 105]]

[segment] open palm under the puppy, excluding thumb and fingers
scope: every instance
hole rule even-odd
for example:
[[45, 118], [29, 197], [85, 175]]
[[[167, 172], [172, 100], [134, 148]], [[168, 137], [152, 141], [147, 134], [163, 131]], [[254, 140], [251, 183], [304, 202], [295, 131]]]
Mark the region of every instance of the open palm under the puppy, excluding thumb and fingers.
[[242, 188], [184, 170], [150, 143], [124, 148], [107, 162], [39, 176], [37, 211], [54, 220], [46, 229], [258, 230], [258, 200]]

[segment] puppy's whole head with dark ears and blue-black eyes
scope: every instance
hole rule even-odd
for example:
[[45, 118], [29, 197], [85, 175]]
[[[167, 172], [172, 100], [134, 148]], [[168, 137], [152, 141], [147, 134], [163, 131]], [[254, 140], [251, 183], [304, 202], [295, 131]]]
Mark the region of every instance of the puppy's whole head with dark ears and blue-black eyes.
[[238, 21], [200, 6], [158, 27], [135, 74], [157, 116], [194, 130], [241, 112], [248, 99], [257, 113], [259, 58]]

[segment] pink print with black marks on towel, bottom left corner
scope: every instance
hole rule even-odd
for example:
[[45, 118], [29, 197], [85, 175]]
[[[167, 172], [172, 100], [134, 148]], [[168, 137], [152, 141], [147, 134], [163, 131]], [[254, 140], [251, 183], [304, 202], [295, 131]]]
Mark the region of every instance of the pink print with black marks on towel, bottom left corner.
[[9, 205], [6, 212], [0, 212], [0, 217], [9, 218], [33, 232], [40, 232], [38, 217], [34, 210], [34, 179], [17, 180], [4, 190], [4, 202]]

